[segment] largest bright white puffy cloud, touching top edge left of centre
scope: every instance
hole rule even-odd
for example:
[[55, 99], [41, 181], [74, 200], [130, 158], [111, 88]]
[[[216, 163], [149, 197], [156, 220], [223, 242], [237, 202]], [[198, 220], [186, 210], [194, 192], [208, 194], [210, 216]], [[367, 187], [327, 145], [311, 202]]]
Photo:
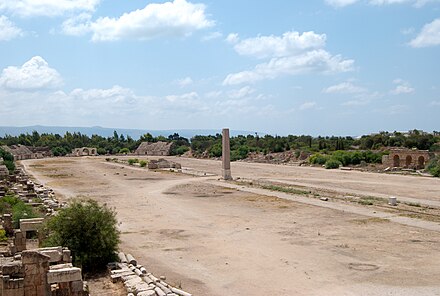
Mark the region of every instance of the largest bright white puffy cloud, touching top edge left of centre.
[[205, 14], [205, 5], [174, 0], [151, 3], [143, 9], [124, 13], [119, 18], [101, 17], [91, 23], [75, 25], [88, 28], [92, 32], [93, 41], [116, 41], [189, 36], [194, 31], [213, 26], [214, 21], [209, 20]]

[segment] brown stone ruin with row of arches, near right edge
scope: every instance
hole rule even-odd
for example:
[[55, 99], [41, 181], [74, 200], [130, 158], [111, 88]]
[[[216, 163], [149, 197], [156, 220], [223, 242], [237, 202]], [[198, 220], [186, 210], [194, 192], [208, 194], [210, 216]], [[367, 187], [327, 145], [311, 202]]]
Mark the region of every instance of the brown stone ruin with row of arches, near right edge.
[[424, 169], [431, 155], [428, 150], [392, 148], [382, 157], [382, 164], [390, 168]]

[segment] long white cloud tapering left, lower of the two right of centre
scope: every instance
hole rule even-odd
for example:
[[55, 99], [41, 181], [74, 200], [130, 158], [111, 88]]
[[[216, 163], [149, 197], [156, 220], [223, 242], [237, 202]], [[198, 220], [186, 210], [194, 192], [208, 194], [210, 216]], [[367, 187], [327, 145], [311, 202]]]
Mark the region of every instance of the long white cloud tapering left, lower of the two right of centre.
[[312, 50], [299, 55], [272, 58], [267, 63], [258, 64], [253, 70], [229, 74], [224, 85], [255, 83], [275, 79], [282, 75], [297, 75], [309, 72], [337, 73], [353, 69], [353, 60], [345, 60], [340, 55], [332, 56], [323, 49]]

